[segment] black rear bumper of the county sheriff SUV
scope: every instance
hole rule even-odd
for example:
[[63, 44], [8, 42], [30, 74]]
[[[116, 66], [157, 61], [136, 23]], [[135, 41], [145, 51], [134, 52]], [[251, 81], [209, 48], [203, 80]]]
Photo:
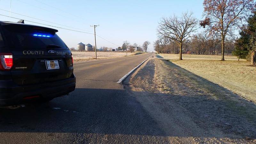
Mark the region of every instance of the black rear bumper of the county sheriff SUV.
[[[0, 106], [11, 106], [26, 103], [31, 100], [51, 99], [74, 91], [76, 77], [45, 84], [16, 85], [12, 81], [0, 81]], [[24, 99], [36, 96], [36, 99]], [[39, 97], [38, 97], [39, 96]]]

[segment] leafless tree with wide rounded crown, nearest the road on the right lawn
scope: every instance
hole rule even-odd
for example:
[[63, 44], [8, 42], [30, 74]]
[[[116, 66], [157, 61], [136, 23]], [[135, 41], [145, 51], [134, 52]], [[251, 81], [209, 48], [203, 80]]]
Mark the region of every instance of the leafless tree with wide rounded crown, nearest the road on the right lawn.
[[174, 40], [180, 46], [180, 60], [182, 60], [182, 44], [190, 34], [196, 31], [196, 18], [192, 17], [193, 13], [182, 13], [181, 17], [173, 15], [169, 18], [162, 18], [158, 26], [158, 34]]

